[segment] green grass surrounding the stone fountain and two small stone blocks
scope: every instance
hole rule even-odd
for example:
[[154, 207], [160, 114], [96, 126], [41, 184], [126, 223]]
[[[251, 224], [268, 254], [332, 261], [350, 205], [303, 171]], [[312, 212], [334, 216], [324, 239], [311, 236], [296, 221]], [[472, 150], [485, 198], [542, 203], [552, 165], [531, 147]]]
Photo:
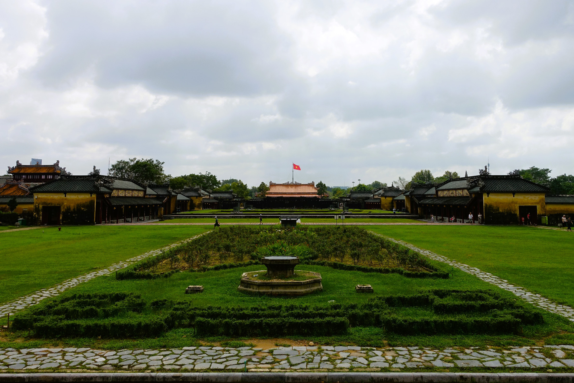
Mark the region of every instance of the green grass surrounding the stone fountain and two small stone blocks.
[[[444, 269], [445, 265], [432, 261], [433, 265]], [[298, 298], [281, 298], [269, 296], [248, 295], [239, 292], [239, 279], [246, 271], [265, 270], [264, 265], [252, 265], [243, 268], [233, 268], [207, 272], [180, 272], [169, 278], [116, 280], [114, 275], [95, 278], [82, 283], [64, 294], [79, 294], [87, 292], [138, 292], [148, 302], [154, 299], [193, 300], [198, 306], [256, 306], [259, 303], [305, 303], [327, 304], [334, 299], [339, 303], [363, 302], [373, 296], [389, 294], [414, 294], [424, 288], [487, 288], [502, 291], [478, 278], [453, 270], [453, 278], [406, 278], [398, 274], [364, 273], [359, 271], [344, 271], [318, 265], [298, 265], [297, 270], [315, 271], [323, 278], [323, 291], [301, 296]], [[358, 294], [356, 284], [371, 284], [373, 294]], [[184, 294], [189, 285], [203, 285], [201, 294]]]

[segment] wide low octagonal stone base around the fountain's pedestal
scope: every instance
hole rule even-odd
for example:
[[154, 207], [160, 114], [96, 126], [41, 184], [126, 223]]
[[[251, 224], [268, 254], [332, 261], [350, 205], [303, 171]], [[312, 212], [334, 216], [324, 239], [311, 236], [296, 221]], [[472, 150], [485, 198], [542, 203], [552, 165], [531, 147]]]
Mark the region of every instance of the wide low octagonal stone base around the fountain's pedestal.
[[[297, 271], [303, 272], [303, 270]], [[254, 280], [251, 278], [252, 275], [266, 272], [265, 270], [244, 272], [237, 290], [273, 296], [301, 296], [323, 290], [321, 274], [318, 272], [305, 271], [315, 276], [307, 280]]]

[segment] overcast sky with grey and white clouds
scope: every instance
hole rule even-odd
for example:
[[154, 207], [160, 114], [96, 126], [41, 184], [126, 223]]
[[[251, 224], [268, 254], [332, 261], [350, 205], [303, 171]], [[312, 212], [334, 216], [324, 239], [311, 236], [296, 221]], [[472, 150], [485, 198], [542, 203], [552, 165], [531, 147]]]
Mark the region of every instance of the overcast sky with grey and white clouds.
[[572, 1], [0, 1], [0, 165], [572, 174]]

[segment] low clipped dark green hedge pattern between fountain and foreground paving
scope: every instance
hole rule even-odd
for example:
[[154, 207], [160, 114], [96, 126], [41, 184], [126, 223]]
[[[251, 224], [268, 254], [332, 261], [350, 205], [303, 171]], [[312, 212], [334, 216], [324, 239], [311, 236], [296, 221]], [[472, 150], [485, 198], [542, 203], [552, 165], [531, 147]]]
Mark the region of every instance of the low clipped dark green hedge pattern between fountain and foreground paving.
[[543, 322], [540, 312], [490, 290], [440, 289], [326, 306], [197, 307], [161, 299], [147, 307], [135, 294], [83, 294], [21, 312], [13, 326], [38, 337], [153, 337], [177, 328], [193, 328], [197, 336], [275, 337], [340, 335], [350, 327], [407, 335], [519, 334]]

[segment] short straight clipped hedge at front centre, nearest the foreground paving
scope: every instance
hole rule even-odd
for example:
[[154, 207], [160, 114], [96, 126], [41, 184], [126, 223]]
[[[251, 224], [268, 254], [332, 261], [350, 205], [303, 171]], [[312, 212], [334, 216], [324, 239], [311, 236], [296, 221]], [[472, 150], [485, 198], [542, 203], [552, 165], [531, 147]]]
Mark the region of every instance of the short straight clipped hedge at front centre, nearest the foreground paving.
[[236, 319], [210, 319], [196, 318], [196, 334], [242, 336], [272, 336], [302, 335], [325, 337], [329, 335], [346, 334], [349, 328], [347, 318], [251, 318]]

